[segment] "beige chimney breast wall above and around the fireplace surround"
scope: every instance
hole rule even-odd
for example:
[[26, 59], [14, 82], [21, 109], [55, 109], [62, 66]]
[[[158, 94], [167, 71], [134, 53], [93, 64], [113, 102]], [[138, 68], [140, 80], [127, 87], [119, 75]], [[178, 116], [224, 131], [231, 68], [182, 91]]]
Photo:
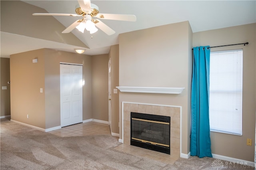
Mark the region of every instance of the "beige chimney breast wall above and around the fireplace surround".
[[[122, 93], [122, 101], [182, 107], [182, 153], [188, 154], [192, 31], [188, 22], [169, 24], [119, 36], [119, 86], [185, 87], [180, 95]], [[122, 127], [120, 127], [122, 138]]]

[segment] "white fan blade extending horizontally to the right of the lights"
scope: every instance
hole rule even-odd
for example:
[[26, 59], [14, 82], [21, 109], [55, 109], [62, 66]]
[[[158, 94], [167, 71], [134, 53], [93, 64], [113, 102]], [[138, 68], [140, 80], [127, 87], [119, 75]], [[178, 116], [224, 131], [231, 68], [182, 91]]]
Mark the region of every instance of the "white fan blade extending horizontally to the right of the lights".
[[120, 21], [136, 21], [135, 15], [125, 14], [97, 14], [98, 18], [106, 20], [120, 20]]

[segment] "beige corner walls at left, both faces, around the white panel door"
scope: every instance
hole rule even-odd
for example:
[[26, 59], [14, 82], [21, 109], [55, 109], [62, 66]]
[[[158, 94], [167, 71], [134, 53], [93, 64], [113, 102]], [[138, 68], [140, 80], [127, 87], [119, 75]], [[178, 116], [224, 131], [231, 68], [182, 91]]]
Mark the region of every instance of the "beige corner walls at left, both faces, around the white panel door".
[[91, 56], [39, 49], [10, 56], [12, 120], [44, 129], [60, 126], [60, 62], [83, 64], [83, 120], [92, 118]]

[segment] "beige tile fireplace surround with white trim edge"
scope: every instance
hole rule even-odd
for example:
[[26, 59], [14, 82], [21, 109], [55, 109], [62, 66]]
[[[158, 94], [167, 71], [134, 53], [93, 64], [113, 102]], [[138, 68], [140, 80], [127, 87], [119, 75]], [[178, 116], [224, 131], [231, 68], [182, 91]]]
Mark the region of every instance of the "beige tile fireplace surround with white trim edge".
[[180, 157], [180, 113], [181, 107], [144, 103], [122, 102], [123, 143], [130, 145], [131, 112], [170, 116], [170, 155]]

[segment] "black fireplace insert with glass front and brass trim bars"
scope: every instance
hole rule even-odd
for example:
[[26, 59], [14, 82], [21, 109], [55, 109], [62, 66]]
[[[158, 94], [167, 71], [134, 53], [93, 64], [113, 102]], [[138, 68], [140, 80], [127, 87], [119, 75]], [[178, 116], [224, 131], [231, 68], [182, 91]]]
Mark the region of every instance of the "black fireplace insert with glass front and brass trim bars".
[[130, 144], [170, 154], [170, 117], [131, 112]]

